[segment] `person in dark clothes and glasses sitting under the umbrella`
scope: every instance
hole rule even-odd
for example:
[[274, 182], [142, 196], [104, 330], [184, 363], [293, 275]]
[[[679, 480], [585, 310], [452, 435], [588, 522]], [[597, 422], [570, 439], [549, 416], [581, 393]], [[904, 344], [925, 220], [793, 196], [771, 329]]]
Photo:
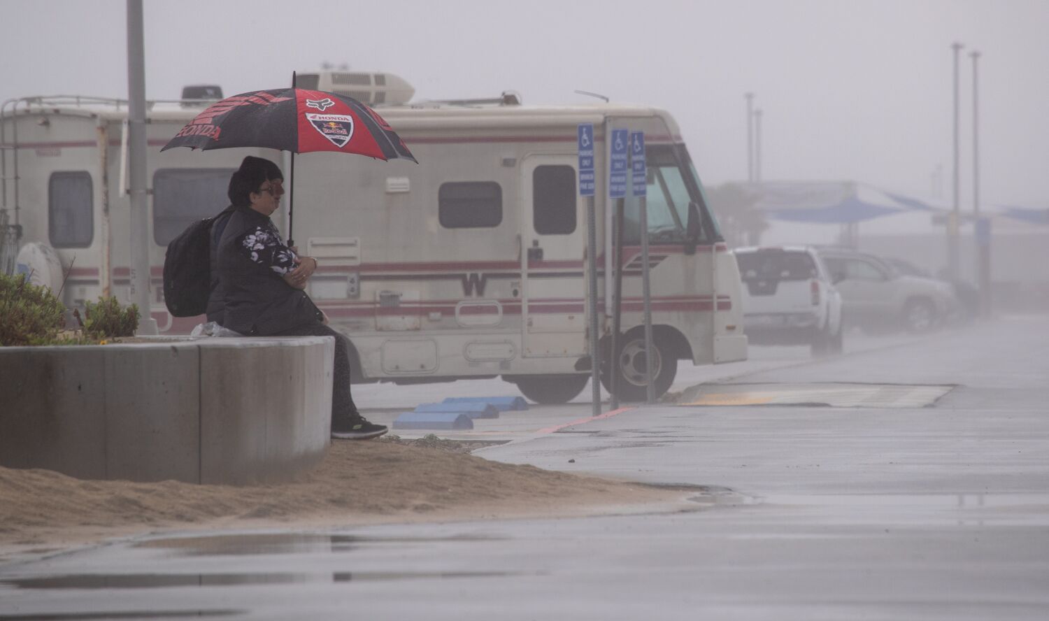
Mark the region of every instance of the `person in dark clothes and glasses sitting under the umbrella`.
[[[284, 243], [270, 216], [280, 208], [284, 177], [276, 164], [244, 157], [230, 178], [236, 208], [218, 238], [213, 271], [218, 281], [209, 319], [244, 336], [335, 337], [331, 437], [367, 440], [386, 433], [357, 410], [349, 391], [349, 341], [328, 327], [327, 316], [304, 291], [317, 259]], [[214, 312], [214, 314], [213, 314]]]

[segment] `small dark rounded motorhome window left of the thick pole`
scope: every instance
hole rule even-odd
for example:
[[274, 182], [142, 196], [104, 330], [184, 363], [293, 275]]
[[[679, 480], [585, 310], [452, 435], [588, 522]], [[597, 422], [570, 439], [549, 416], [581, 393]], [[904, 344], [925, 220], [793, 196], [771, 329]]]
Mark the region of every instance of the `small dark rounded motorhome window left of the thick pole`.
[[55, 248], [87, 248], [94, 238], [91, 174], [56, 172], [47, 185], [47, 236]]

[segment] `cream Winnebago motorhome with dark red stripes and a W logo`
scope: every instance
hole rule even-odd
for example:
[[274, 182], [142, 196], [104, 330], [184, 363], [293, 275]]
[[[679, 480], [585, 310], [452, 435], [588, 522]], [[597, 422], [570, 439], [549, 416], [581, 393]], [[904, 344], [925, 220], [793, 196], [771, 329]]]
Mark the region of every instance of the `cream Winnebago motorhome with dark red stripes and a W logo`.
[[[418, 165], [295, 156], [292, 236], [318, 259], [308, 293], [349, 337], [355, 381], [501, 377], [534, 401], [569, 401], [590, 377], [586, 273], [596, 261], [603, 378], [618, 373], [620, 397], [643, 399], [642, 234], [649, 242], [657, 394], [670, 386], [679, 360], [746, 358], [738, 269], [668, 112], [613, 103], [530, 106], [513, 91], [409, 103], [402, 100], [411, 89], [392, 78], [372, 76], [370, 85], [398, 86], [379, 112]], [[367, 87], [324, 73], [299, 73], [299, 81], [336, 91], [339, 84]], [[186, 334], [202, 319], [166, 312], [166, 244], [227, 206], [230, 174], [245, 154], [283, 162], [290, 176], [286, 153], [159, 152], [201, 109], [197, 102], [156, 102], [148, 112], [150, 310], [170, 334]], [[129, 299], [126, 117], [126, 103], [87, 98], [19, 100], [0, 116], [0, 213], [20, 232], [20, 256], [37, 257], [34, 271], [56, 290], [66, 279], [68, 306], [100, 295]], [[595, 128], [596, 249], [587, 248], [587, 199], [577, 190], [576, 128], [584, 123]], [[645, 133], [648, 230], [640, 231], [640, 199], [627, 192], [621, 337], [609, 357], [616, 204], [607, 197], [605, 136], [623, 128]], [[286, 206], [275, 219], [286, 233]]]

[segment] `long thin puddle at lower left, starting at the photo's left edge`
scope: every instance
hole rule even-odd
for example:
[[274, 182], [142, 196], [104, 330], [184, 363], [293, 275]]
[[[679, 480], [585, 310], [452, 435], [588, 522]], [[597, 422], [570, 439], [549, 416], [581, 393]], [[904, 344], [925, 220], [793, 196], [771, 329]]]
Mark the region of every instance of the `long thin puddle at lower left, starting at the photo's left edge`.
[[177, 588], [419, 579], [520, 576], [512, 572], [337, 572], [334, 574], [70, 574], [40, 578], [0, 579], [0, 586], [27, 590]]

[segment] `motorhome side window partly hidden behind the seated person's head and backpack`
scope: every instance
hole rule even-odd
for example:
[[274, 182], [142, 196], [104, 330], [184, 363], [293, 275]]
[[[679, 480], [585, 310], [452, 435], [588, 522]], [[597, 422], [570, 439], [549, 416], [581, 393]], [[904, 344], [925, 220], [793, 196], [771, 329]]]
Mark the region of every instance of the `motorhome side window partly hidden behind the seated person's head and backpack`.
[[162, 168], [153, 174], [153, 239], [168, 245], [195, 220], [230, 205], [232, 168]]

